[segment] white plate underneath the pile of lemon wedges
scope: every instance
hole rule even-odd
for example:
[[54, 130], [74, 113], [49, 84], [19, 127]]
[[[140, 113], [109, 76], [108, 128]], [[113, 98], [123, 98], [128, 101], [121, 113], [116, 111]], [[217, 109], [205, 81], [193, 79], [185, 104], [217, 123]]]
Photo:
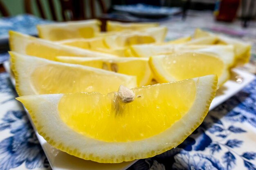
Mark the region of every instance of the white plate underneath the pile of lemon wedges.
[[[11, 75], [9, 62], [4, 62], [4, 68]], [[10, 77], [11, 82], [14, 85], [15, 79], [12, 75]], [[242, 79], [242, 82], [239, 81], [240, 79]], [[249, 84], [253, 79], [255, 79], [255, 75], [234, 68], [232, 70], [231, 79], [222, 85], [217, 91], [216, 97], [211, 103], [210, 110], [238, 93], [238, 91], [242, 90], [242, 88]], [[27, 115], [29, 117], [28, 113]], [[38, 137], [38, 140], [53, 170], [126, 170], [137, 161], [135, 160], [123, 163], [97, 163], [74, 157], [50, 146], [45, 139], [38, 134], [32, 121], [31, 124], [33, 125], [36, 136]]]

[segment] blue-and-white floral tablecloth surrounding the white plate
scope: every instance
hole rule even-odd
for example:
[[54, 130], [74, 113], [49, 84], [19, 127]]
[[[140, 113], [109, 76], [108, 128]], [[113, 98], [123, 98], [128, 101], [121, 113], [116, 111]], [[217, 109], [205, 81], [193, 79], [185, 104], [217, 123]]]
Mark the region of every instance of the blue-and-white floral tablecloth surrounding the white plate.
[[[27, 17], [33, 23], [25, 24], [23, 21]], [[22, 20], [21, 31], [35, 34], [34, 25], [43, 22], [28, 15], [16, 18], [0, 19], [0, 26], [8, 23], [6, 29], [12, 29], [13, 23]], [[239, 21], [232, 24], [215, 22], [210, 12], [189, 11], [185, 21], [174, 17], [161, 24], [168, 27], [168, 39], [191, 35], [200, 27], [251, 42], [252, 53], [256, 53], [256, 22], [242, 29]], [[17, 27], [15, 29], [18, 31]], [[4, 37], [4, 33], [6, 36], [7, 31], [0, 27], [0, 36]], [[249, 66], [243, 69], [256, 73], [254, 54]], [[0, 54], [0, 59], [2, 56]], [[25, 111], [14, 99], [17, 94], [2, 65], [0, 72], [0, 170], [51, 169]], [[256, 170], [255, 87], [256, 80], [209, 112], [202, 125], [177, 148], [141, 159], [129, 170]]]

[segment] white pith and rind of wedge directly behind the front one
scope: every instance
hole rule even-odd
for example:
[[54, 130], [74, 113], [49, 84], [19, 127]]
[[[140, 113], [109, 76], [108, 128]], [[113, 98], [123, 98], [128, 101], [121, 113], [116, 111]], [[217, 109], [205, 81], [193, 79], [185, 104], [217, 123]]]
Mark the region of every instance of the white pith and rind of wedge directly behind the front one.
[[[137, 86], [137, 78], [131, 75], [124, 75], [120, 73], [114, 73], [111, 71], [105, 71], [99, 68], [93, 68], [89, 66], [81, 66], [77, 64], [68, 64], [68, 63], [61, 63], [55, 62], [51, 60], [46, 60], [44, 58], [33, 57], [29, 55], [19, 54], [13, 51], [10, 51], [9, 54], [11, 55], [11, 70], [14, 73], [14, 78], [16, 82], [16, 91], [19, 96], [22, 95], [35, 95], [38, 94], [34, 87], [31, 85], [30, 77], [33, 71], [38, 66], [44, 66], [47, 64], [55, 64], [55, 65], [62, 65], [66, 67], [72, 67], [82, 70], [93, 71], [94, 73], [108, 75], [115, 75], [121, 77], [125, 80], [125, 85], [129, 88], [133, 88]], [[33, 63], [33, 64], [29, 64]], [[28, 66], [29, 65], [29, 66]], [[22, 74], [21, 74], [22, 73]]]

